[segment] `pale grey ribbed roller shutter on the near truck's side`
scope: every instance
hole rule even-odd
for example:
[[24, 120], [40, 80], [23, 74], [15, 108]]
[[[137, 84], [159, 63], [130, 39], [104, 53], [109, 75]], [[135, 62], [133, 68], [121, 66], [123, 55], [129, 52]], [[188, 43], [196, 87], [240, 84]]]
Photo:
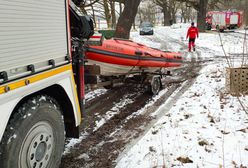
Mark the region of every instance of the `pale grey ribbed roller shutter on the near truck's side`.
[[0, 1], [0, 84], [68, 62], [66, 0]]

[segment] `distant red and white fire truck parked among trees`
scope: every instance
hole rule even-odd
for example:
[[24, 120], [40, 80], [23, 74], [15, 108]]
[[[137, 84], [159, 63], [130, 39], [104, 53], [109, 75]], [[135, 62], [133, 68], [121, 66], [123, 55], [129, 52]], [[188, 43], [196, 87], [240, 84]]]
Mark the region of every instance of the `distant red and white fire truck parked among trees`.
[[239, 28], [242, 25], [242, 22], [242, 11], [209, 11], [206, 17], [206, 28], [207, 30], [213, 28], [223, 32], [225, 29]]

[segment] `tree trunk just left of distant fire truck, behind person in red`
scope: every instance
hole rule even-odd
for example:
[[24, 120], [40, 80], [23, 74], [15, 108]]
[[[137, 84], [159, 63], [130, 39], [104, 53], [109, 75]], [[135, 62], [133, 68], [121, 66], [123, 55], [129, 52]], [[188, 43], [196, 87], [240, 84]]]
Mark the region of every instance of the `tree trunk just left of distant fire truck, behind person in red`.
[[205, 18], [207, 13], [208, 0], [200, 0], [197, 12], [197, 27], [200, 32], [205, 32]]

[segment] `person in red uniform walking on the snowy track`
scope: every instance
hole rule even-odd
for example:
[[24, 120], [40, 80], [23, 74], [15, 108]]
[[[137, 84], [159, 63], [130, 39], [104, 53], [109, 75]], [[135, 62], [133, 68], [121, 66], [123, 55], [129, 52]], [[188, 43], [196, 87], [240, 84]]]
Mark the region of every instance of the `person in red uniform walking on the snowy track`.
[[195, 23], [191, 23], [191, 27], [188, 29], [187, 37], [189, 37], [189, 52], [191, 52], [191, 48], [193, 47], [193, 51], [195, 51], [195, 38], [199, 38], [198, 28], [195, 27]]

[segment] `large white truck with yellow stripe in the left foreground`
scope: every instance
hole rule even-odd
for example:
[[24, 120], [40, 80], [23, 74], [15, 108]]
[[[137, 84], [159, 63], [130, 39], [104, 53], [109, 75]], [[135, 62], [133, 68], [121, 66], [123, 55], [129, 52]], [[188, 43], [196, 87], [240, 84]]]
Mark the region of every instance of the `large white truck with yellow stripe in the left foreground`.
[[56, 168], [84, 109], [92, 21], [70, 0], [0, 0], [0, 167]]

